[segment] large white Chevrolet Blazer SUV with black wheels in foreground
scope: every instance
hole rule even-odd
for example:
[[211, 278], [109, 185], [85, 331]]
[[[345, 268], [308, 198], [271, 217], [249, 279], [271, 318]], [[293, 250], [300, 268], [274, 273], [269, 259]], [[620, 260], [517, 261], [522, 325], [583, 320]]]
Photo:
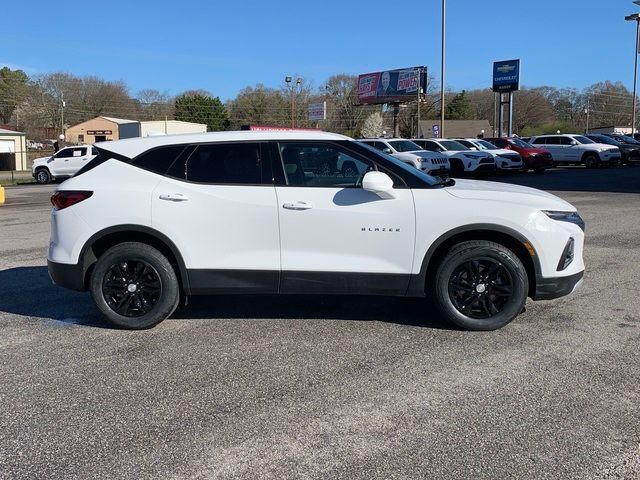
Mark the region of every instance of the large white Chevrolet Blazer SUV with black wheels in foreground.
[[[171, 135], [98, 151], [51, 198], [49, 274], [127, 328], [161, 322], [181, 296], [304, 293], [429, 294], [444, 318], [492, 330], [583, 276], [584, 223], [567, 202], [436, 179], [341, 135]], [[309, 151], [333, 152], [340, 169], [307, 171]]]

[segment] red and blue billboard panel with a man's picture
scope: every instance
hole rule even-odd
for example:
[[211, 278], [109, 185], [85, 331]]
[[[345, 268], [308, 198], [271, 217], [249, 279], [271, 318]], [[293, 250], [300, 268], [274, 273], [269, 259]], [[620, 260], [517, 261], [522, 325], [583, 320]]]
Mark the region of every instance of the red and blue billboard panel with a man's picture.
[[358, 76], [360, 103], [393, 103], [416, 100], [418, 84], [424, 88], [424, 67], [385, 70]]

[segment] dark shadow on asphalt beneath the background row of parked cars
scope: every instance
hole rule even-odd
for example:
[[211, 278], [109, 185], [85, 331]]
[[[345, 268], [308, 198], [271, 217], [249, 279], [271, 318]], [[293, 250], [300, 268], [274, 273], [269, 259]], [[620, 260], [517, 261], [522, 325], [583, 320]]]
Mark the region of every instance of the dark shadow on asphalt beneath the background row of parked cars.
[[640, 193], [640, 166], [597, 169], [557, 167], [542, 174], [497, 175], [486, 180], [547, 191]]

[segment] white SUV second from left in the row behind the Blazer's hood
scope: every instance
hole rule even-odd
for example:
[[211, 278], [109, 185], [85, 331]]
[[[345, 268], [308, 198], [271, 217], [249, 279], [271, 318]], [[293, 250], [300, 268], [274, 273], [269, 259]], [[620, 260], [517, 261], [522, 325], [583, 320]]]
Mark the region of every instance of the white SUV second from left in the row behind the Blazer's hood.
[[496, 171], [496, 162], [493, 159], [493, 155], [471, 150], [455, 140], [413, 138], [411, 141], [425, 150], [442, 153], [449, 157], [453, 176], [460, 176], [465, 172], [482, 175], [495, 173]]

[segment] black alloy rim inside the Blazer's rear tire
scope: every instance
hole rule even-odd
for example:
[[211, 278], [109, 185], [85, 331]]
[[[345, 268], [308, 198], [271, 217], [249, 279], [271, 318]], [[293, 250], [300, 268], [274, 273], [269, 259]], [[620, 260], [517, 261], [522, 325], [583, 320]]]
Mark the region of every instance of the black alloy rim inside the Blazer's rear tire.
[[105, 273], [102, 294], [117, 314], [141, 317], [153, 310], [162, 295], [160, 275], [143, 260], [118, 262]]

